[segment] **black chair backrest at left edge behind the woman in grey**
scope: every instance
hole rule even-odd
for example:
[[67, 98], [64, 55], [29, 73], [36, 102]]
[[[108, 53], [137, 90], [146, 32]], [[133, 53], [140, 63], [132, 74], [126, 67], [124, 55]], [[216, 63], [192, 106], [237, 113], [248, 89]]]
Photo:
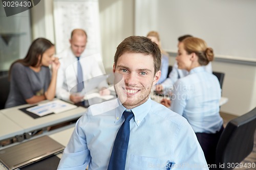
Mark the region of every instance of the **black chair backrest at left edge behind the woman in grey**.
[[0, 76], [0, 109], [5, 108], [5, 103], [8, 98], [10, 91], [10, 82], [8, 80], [8, 75]]

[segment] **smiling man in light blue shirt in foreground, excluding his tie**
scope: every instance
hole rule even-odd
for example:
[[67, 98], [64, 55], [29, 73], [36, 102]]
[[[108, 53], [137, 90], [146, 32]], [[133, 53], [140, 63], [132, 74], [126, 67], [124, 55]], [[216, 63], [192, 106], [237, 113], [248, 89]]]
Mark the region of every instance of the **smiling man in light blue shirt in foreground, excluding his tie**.
[[118, 98], [90, 106], [78, 120], [58, 169], [113, 169], [109, 162], [125, 110], [134, 116], [122, 169], [208, 169], [187, 120], [150, 98], [160, 65], [159, 47], [146, 37], [131, 36], [118, 45], [113, 66]]

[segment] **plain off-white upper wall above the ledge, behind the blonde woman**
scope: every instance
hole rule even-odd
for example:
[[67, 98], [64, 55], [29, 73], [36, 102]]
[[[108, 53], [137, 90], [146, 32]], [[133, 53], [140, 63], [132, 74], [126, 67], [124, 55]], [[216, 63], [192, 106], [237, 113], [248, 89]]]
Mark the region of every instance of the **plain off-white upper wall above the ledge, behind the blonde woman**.
[[136, 0], [135, 33], [157, 30], [162, 47], [175, 52], [177, 37], [204, 39], [218, 57], [251, 59], [256, 45], [256, 1], [252, 0]]

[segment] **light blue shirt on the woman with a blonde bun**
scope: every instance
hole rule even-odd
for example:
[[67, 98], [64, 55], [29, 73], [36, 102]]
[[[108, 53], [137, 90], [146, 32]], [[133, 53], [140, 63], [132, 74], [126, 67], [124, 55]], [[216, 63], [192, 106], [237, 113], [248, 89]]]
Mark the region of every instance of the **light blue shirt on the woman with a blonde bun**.
[[196, 133], [216, 133], [223, 124], [220, 99], [218, 78], [200, 66], [175, 83], [170, 109], [184, 116]]

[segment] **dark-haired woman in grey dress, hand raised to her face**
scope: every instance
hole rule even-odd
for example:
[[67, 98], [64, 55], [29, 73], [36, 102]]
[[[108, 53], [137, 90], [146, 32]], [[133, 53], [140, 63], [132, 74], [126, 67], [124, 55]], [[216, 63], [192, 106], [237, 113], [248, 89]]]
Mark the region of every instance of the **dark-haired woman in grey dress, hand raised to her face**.
[[54, 98], [60, 65], [54, 54], [54, 44], [45, 38], [37, 38], [30, 45], [27, 56], [12, 63], [9, 70], [10, 92], [5, 108]]

